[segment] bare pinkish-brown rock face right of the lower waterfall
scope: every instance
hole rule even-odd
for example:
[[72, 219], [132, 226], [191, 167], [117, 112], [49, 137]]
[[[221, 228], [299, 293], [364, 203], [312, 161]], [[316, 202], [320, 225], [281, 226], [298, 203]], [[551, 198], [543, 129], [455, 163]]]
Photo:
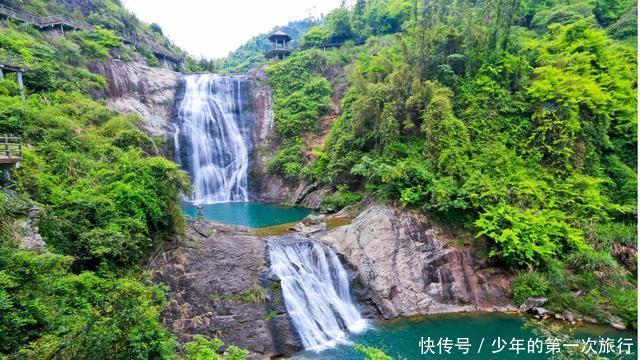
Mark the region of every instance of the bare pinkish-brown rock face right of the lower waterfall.
[[319, 240], [351, 264], [361, 300], [385, 319], [511, 309], [511, 277], [447, 245], [451, 239], [424, 215], [373, 205]]

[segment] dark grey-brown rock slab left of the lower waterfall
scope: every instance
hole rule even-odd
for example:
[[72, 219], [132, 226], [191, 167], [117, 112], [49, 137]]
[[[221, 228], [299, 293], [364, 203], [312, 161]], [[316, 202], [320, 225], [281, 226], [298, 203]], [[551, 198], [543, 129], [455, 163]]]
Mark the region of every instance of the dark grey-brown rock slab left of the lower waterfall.
[[154, 281], [170, 288], [165, 325], [180, 341], [218, 337], [251, 358], [289, 355], [300, 348], [279, 281], [271, 279], [266, 242], [246, 230], [192, 223], [188, 240], [160, 254]]

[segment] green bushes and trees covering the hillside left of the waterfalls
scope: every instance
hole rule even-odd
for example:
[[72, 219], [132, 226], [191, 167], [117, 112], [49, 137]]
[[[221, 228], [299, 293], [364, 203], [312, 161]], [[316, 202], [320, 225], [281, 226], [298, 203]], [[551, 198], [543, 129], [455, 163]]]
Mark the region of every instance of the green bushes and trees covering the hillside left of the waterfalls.
[[[15, 74], [0, 80], [0, 133], [24, 142], [16, 183], [0, 192], [0, 358], [211, 359], [222, 343], [179, 346], [160, 322], [166, 289], [144, 271], [184, 229], [179, 194], [190, 191], [188, 175], [158, 156], [161, 140], [140, 131], [139, 118], [90, 96], [107, 83], [86, 68], [116, 57], [155, 65], [149, 47], [172, 45], [110, 0], [9, 5], [96, 28], [61, 36], [0, 24], [2, 53], [20, 55], [28, 68], [26, 101]], [[126, 46], [123, 32], [149, 45]], [[32, 208], [45, 253], [18, 246], [18, 225]], [[228, 353], [244, 357], [234, 347]]]

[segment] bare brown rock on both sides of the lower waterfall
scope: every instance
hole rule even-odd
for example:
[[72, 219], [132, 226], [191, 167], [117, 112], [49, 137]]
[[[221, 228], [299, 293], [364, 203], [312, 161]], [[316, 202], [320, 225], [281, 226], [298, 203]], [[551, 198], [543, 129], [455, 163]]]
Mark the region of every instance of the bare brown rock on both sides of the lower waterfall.
[[[340, 214], [344, 216], [343, 214]], [[481, 266], [469, 249], [427, 217], [370, 204], [351, 224], [326, 229], [308, 223], [296, 237], [331, 246], [350, 269], [352, 289], [369, 318], [511, 309], [510, 276]], [[300, 349], [268, 265], [267, 242], [249, 229], [191, 222], [186, 239], [153, 261], [157, 282], [169, 286], [163, 319], [179, 336], [217, 336], [252, 358]]]

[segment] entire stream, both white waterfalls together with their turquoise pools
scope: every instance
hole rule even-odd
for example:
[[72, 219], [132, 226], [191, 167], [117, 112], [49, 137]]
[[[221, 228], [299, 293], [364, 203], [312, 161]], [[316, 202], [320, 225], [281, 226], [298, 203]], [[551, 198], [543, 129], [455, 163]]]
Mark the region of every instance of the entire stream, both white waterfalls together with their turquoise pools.
[[[239, 76], [188, 75], [177, 100], [175, 123], [176, 162], [191, 174], [192, 203], [184, 211], [195, 217], [195, 205], [204, 205], [205, 218], [249, 227], [262, 227], [300, 220], [307, 210], [273, 204], [248, 203], [248, 169], [253, 147], [254, 117], [247, 82]], [[519, 318], [505, 315], [429, 317], [370, 326], [353, 301], [349, 276], [329, 247], [308, 240], [273, 238], [269, 241], [271, 270], [281, 280], [289, 318], [311, 359], [360, 359], [351, 346], [362, 343], [381, 347], [394, 358], [425, 356], [424, 338], [464, 338], [474, 348], [476, 359], [511, 359], [514, 354], [496, 354], [491, 344], [500, 337], [528, 339]], [[369, 331], [364, 331], [369, 329]], [[609, 334], [635, 338], [635, 332]], [[583, 336], [602, 336], [587, 331]], [[324, 351], [323, 351], [324, 350]], [[440, 351], [440, 349], [439, 349]], [[636, 351], [636, 345], [633, 346]], [[429, 357], [432, 357], [430, 354]], [[466, 359], [460, 352], [435, 358]], [[546, 354], [519, 354], [518, 358], [545, 359]], [[633, 357], [623, 357], [633, 358]]]

